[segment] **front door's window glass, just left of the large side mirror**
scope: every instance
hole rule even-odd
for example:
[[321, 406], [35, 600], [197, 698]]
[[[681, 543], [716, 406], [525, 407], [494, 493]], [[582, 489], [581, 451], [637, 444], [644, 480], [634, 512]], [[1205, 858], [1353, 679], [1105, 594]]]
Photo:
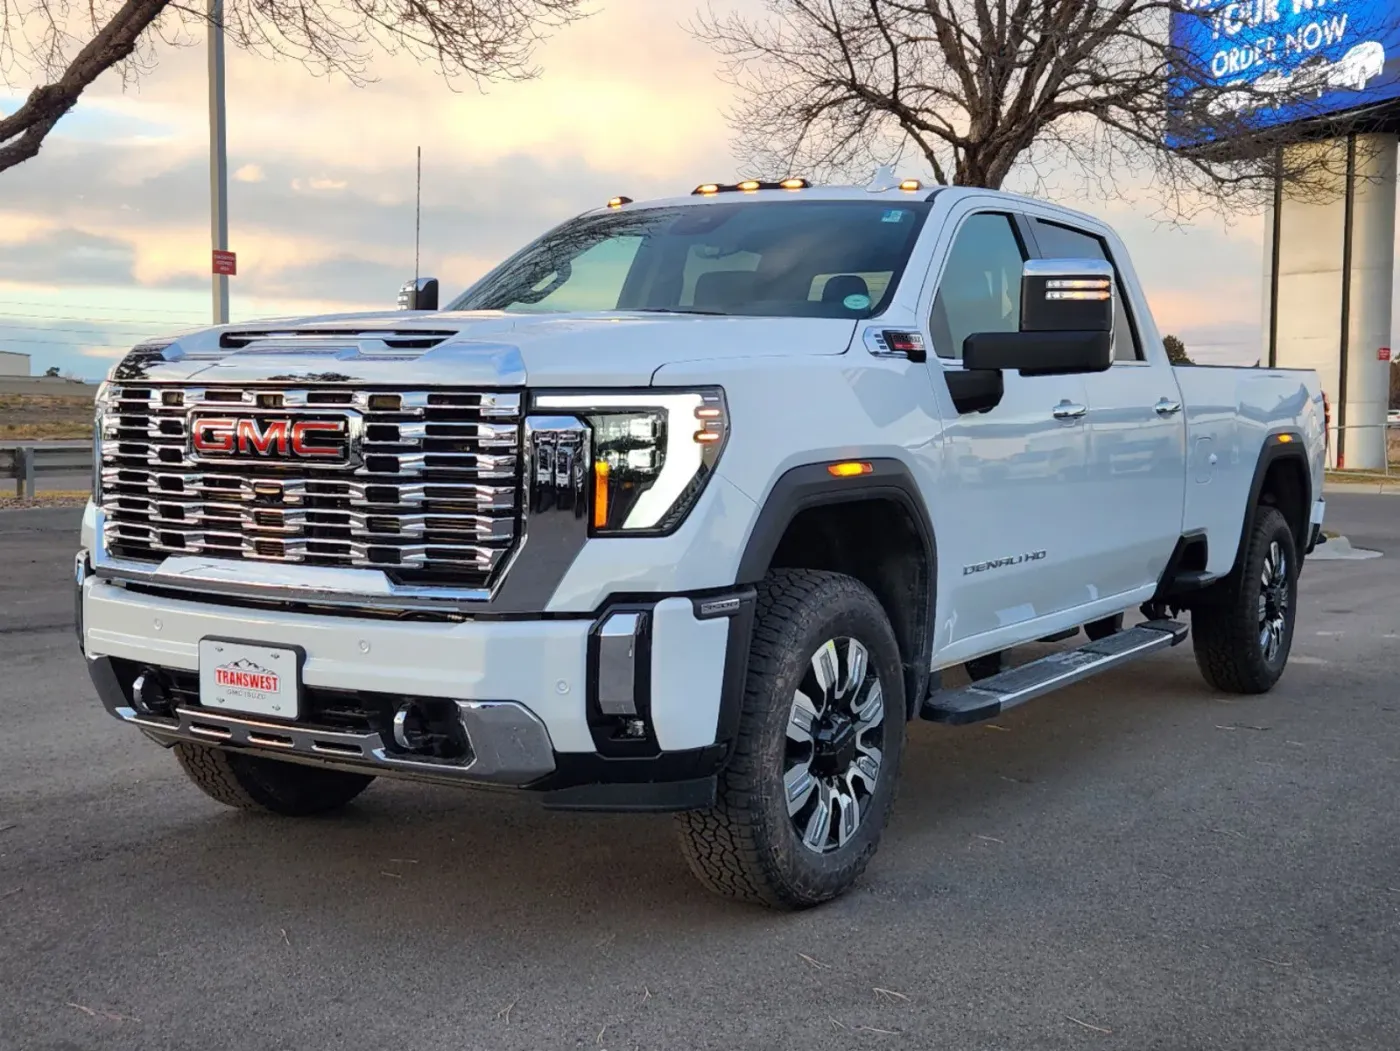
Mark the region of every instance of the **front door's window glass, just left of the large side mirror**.
[[1025, 258], [1009, 216], [986, 211], [963, 221], [938, 281], [930, 318], [938, 357], [960, 360], [963, 340], [974, 332], [1021, 327]]

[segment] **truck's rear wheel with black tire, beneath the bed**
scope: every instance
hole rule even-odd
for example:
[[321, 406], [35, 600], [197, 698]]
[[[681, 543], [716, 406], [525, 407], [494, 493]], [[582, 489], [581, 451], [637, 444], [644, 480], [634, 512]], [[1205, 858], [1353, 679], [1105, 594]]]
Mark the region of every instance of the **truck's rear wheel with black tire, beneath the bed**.
[[1217, 690], [1267, 693], [1288, 665], [1298, 616], [1298, 553], [1278, 508], [1257, 509], [1239, 572], [1215, 588], [1191, 609], [1196, 665]]

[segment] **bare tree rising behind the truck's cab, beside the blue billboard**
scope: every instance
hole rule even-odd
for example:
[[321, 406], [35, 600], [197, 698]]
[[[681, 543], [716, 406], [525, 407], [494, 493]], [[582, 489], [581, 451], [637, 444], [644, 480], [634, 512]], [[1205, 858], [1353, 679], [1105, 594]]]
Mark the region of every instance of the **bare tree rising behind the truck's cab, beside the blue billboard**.
[[[963, 186], [1001, 188], [1016, 174], [1044, 189], [1056, 171], [1113, 196], [1126, 175], [1137, 176], [1155, 185], [1173, 217], [1259, 204], [1275, 175], [1294, 195], [1334, 185], [1336, 151], [1287, 150], [1294, 133], [1257, 119], [1278, 97], [1222, 87], [1201, 56], [1173, 45], [1173, 13], [1211, 15], [1198, 1], [764, 7], [760, 17], [711, 8], [692, 27], [739, 88], [729, 116], [759, 174], [868, 171], [872, 157], [913, 147], [938, 182]], [[1305, 95], [1287, 101], [1306, 113]], [[1207, 140], [1217, 144], [1200, 146]]]

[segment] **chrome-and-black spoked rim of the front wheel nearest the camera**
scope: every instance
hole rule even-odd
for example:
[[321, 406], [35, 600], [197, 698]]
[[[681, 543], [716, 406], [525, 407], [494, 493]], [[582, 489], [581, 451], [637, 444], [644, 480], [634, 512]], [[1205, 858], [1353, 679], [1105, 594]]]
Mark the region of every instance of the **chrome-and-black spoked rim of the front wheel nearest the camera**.
[[865, 647], [823, 642], [788, 714], [783, 789], [802, 845], [840, 849], [860, 828], [879, 780], [885, 697]]

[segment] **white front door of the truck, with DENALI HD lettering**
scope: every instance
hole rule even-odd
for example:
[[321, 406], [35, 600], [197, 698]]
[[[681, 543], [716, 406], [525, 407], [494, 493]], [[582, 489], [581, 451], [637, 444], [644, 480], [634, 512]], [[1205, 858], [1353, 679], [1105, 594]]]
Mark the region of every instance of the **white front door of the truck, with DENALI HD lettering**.
[[[937, 267], [930, 358], [944, 407], [938, 505], [938, 634], [946, 661], [1033, 637], [1030, 621], [1086, 605], [1096, 547], [1088, 493], [1088, 413], [1082, 376], [1002, 374], [1004, 395], [987, 411], [959, 411], [948, 376], [962, 372], [962, 343], [974, 332], [1021, 325], [1023, 220], [977, 211], [956, 224]], [[956, 379], [953, 379], [956, 383]]]

